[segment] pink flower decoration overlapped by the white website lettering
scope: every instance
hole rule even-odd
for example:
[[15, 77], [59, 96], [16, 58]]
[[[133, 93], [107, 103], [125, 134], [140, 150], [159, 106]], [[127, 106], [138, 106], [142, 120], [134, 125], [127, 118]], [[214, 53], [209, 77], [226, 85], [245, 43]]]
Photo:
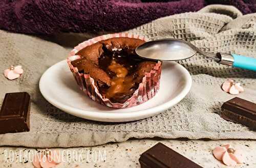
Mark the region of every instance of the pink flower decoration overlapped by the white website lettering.
[[55, 167], [60, 163], [59, 151], [46, 150], [43, 153], [38, 153], [32, 163], [36, 168]]

